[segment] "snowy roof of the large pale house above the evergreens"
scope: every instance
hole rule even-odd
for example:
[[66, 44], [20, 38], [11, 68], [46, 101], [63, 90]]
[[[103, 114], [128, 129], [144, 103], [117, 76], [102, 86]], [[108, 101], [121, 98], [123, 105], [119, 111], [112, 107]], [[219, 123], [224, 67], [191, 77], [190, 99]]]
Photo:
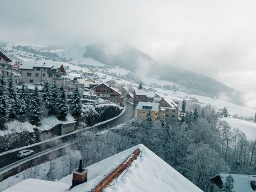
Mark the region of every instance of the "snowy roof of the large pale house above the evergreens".
[[36, 62], [36, 61], [24, 61], [22, 65], [20, 65], [19, 69], [29, 69], [33, 70], [34, 67], [44, 67], [44, 68], [53, 68], [57, 69], [61, 67], [61, 63], [45, 63], [45, 62]]

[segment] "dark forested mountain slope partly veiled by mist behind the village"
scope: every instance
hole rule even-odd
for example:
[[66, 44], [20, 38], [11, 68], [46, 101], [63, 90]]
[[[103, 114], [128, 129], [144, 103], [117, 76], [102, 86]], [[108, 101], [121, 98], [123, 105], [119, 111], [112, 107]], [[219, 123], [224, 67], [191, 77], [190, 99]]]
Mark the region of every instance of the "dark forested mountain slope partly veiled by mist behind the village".
[[220, 81], [189, 70], [157, 63], [150, 56], [131, 45], [92, 44], [85, 47], [83, 56], [93, 58], [106, 65], [126, 68], [136, 72], [139, 76], [143, 74], [180, 84], [191, 93], [208, 97], [225, 97], [225, 100], [229, 102], [243, 104], [241, 102], [242, 94]]

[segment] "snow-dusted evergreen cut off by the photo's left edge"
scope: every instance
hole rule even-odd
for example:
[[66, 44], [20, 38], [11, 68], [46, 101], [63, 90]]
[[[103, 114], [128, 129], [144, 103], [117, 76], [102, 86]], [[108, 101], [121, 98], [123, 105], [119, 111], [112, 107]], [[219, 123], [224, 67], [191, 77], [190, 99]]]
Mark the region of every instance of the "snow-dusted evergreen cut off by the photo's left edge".
[[8, 96], [8, 86], [3, 69], [0, 78], [0, 129], [5, 129], [4, 124], [9, 120], [10, 103]]

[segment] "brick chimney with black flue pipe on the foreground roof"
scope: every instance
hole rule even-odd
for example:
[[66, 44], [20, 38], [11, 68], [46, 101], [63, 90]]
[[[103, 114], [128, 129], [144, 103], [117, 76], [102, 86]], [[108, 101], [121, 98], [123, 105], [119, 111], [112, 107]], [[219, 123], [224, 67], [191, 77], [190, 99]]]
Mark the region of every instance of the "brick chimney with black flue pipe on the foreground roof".
[[83, 169], [82, 160], [79, 162], [79, 167], [73, 171], [72, 188], [87, 181], [88, 170]]

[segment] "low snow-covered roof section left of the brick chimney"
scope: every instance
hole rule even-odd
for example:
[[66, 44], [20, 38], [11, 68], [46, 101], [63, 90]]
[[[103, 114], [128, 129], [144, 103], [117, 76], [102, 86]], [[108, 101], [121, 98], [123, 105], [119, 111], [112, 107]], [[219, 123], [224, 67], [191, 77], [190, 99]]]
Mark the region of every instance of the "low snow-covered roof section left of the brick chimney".
[[53, 182], [49, 180], [39, 180], [39, 179], [26, 179], [22, 180], [18, 184], [4, 190], [3, 192], [64, 192], [68, 191], [70, 186], [63, 182]]

